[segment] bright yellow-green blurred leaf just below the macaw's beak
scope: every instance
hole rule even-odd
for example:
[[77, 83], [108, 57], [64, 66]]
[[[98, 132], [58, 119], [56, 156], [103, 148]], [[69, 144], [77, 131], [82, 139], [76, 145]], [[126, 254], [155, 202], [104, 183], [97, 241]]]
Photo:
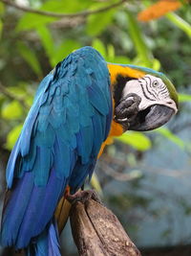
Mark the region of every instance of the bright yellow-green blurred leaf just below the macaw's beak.
[[116, 139], [122, 143], [132, 146], [138, 151], [147, 151], [151, 148], [150, 139], [138, 131], [128, 131]]

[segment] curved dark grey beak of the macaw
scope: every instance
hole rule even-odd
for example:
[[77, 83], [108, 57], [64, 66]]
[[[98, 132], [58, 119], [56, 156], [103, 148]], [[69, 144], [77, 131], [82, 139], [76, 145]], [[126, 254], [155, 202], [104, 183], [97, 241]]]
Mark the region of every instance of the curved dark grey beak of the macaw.
[[128, 129], [145, 131], [154, 128], [159, 128], [167, 123], [175, 110], [166, 105], [151, 105], [144, 110], [138, 112]]

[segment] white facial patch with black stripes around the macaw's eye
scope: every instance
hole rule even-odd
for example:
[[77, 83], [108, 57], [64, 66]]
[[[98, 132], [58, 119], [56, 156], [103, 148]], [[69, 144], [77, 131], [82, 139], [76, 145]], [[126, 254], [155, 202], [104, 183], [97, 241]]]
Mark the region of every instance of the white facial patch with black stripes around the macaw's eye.
[[178, 111], [177, 105], [170, 98], [168, 89], [163, 81], [151, 75], [146, 75], [141, 79], [127, 81], [123, 88], [122, 97], [130, 93], [135, 93], [141, 98], [138, 105], [139, 110], [146, 109], [151, 105], [166, 105]]

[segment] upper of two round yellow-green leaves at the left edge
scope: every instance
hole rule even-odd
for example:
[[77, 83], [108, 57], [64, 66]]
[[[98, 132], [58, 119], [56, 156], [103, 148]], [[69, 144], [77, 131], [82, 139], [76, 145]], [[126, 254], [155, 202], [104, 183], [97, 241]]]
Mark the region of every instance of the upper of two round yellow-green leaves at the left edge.
[[10, 104], [3, 106], [1, 110], [1, 116], [7, 120], [17, 119], [22, 114], [22, 106], [17, 101], [12, 101]]

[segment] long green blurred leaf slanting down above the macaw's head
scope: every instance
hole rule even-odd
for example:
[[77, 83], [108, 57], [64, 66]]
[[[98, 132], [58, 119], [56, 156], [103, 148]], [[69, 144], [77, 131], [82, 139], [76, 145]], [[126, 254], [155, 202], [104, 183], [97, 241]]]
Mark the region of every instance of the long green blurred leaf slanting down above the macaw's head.
[[137, 50], [138, 57], [141, 59], [144, 65], [146, 65], [147, 67], [152, 67], [152, 61], [151, 61], [152, 56], [144, 42], [144, 38], [138, 27], [138, 22], [132, 13], [127, 12], [127, 14], [128, 14], [128, 31], [129, 31], [129, 34], [131, 35], [132, 40], [134, 41], [134, 45]]

